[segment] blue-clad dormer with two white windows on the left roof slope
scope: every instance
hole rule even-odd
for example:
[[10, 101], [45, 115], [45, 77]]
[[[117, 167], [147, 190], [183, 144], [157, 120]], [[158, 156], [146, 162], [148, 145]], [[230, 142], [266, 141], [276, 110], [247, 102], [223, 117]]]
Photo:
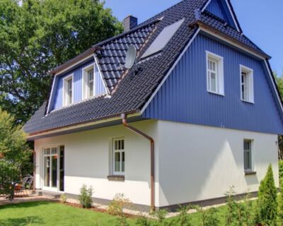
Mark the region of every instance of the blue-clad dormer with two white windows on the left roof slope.
[[108, 93], [94, 58], [55, 74], [47, 114]]

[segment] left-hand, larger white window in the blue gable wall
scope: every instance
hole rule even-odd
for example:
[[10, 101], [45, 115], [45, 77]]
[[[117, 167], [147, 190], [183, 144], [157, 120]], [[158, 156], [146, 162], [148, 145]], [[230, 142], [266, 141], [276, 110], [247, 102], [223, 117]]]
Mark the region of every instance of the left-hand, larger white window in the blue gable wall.
[[223, 57], [207, 51], [207, 91], [224, 95]]

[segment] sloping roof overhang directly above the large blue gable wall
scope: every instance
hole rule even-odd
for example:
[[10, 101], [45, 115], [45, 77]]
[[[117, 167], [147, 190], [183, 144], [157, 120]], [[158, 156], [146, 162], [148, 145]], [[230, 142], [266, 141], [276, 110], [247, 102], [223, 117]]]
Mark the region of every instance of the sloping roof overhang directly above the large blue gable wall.
[[239, 49], [243, 49], [244, 51], [250, 54], [253, 54], [253, 56], [255, 57], [258, 57], [260, 59], [271, 59], [269, 55], [263, 52], [260, 52], [257, 49], [253, 49], [252, 47], [248, 46], [248, 44], [240, 42], [236, 40], [236, 38], [226, 35], [224, 32], [221, 32], [217, 30], [216, 28], [213, 28], [212, 26], [209, 26], [206, 23], [203, 23], [200, 20], [195, 20], [194, 22], [190, 23], [189, 26], [190, 27], [197, 26], [203, 32], [207, 32], [208, 34], [213, 35], [214, 37], [217, 37], [220, 40], [224, 40], [224, 42], [228, 42], [229, 44], [232, 44], [233, 46], [238, 47]]

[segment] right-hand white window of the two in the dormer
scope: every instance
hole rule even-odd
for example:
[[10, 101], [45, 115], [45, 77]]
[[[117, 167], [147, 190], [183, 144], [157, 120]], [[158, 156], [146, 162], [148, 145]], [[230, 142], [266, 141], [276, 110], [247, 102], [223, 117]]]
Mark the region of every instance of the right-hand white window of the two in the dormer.
[[87, 66], [83, 69], [83, 99], [93, 97], [94, 90], [94, 66]]

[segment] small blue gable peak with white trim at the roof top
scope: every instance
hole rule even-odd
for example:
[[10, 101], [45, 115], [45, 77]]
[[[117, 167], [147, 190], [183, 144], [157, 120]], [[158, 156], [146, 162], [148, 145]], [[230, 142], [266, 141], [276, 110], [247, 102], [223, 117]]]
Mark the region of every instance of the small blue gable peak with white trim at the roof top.
[[221, 20], [226, 21], [226, 23], [241, 32], [241, 28], [238, 25], [238, 20], [236, 18], [236, 14], [233, 11], [231, 4], [226, 0], [211, 0], [207, 1], [207, 5], [204, 6], [202, 11], [208, 11], [212, 13], [214, 16], [221, 18]]

